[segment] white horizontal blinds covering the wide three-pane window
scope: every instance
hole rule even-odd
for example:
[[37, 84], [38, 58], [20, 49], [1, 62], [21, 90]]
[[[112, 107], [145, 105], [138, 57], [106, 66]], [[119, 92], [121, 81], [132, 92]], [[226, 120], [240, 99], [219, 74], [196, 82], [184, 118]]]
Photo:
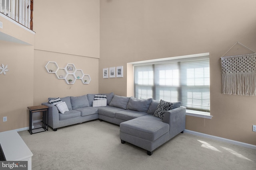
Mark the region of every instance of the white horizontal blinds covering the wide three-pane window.
[[134, 64], [134, 95], [210, 111], [209, 56]]

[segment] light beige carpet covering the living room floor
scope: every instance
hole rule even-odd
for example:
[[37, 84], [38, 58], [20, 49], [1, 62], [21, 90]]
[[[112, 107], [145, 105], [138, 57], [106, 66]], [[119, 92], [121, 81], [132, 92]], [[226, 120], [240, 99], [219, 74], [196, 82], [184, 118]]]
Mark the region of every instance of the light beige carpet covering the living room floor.
[[18, 132], [32, 153], [32, 170], [256, 170], [256, 150], [179, 134], [151, 156], [121, 144], [119, 126], [90, 121], [30, 135]]

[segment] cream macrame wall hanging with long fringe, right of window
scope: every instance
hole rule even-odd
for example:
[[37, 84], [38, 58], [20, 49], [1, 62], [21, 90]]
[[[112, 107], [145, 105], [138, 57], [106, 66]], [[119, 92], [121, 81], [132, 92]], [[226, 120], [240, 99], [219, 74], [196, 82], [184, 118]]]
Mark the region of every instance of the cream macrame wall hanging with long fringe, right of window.
[[[239, 42], [236, 44], [242, 45]], [[242, 46], [249, 49], [244, 45]], [[246, 55], [223, 57], [226, 55], [225, 53], [221, 57], [223, 94], [256, 96], [256, 53], [252, 52]]]

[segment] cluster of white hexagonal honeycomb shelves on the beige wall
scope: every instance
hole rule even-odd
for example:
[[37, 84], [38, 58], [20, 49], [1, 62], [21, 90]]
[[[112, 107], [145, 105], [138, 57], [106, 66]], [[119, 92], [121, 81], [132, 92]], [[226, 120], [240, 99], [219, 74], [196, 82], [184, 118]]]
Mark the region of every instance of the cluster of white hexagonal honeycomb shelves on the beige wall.
[[65, 68], [59, 68], [56, 62], [49, 61], [45, 68], [48, 73], [55, 73], [58, 79], [64, 79], [70, 85], [74, 84], [76, 80], [81, 80], [83, 84], [89, 84], [91, 81], [90, 75], [84, 74], [81, 69], [76, 69], [75, 64], [68, 63]]

